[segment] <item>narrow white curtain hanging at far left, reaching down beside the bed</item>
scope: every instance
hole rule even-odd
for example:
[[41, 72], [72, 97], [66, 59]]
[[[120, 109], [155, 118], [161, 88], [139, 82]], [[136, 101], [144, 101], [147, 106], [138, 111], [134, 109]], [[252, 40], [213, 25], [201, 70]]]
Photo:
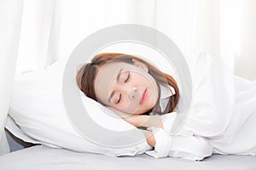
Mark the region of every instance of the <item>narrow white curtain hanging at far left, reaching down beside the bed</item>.
[[0, 1], [0, 155], [9, 151], [3, 128], [15, 77], [23, 1]]

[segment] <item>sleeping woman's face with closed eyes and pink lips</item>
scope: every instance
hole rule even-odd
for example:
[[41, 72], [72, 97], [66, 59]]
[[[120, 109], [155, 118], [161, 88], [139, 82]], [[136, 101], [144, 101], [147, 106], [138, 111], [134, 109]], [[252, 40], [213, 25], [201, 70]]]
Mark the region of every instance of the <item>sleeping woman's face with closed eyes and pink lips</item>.
[[99, 67], [95, 80], [98, 101], [128, 114], [142, 114], [154, 107], [157, 84], [146, 65], [134, 62], [112, 62]]

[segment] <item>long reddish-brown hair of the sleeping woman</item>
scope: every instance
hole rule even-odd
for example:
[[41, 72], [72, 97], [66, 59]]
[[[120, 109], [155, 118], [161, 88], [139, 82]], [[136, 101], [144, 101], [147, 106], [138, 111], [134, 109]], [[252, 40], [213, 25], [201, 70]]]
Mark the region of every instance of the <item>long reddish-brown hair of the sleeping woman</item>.
[[[177, 88], [177, 82], [170, 75], [158, 70], [154, 65], [149, 64], [147, 61], [137, 58], [136, 56], [130, 54], [119, 54], [119, 53], [102, 53], [96, 54], [96, 56], [91, 60], [90, 63], [86, 63], [81, 66], [77, 71], [76, 81], [84, 94], [97, 101], [96, 93], [94, 89], [96, 73], [98, 71], [98, 66], [105, 65], [108, 62], [125, 62], [128, 64], [133, 64], [133, 59], [137, 59], [138, 61], [144, 63], [148, 66], [148, 74], [154, 77], [154, 80], [157, 83], [158, 88], [160, 89], [160, 84], [167, 87], [167, 83], [169, 86], [174, 88], [175, 94], [170, 97], [169, 103], [166, 106], [166, 110], [160, 112], [160, 104], [159, 99], [157, 105], [154, 106], [154, 111], [158, 111], [158, 114], [165, 114], [168, 112], [174, 111], [177, 107], [178, 99], [179, 99], [179, 90]], [[160, 84], [159, 84], [160, 83]], [[172, 93], [172, 90], [170, 90]]]

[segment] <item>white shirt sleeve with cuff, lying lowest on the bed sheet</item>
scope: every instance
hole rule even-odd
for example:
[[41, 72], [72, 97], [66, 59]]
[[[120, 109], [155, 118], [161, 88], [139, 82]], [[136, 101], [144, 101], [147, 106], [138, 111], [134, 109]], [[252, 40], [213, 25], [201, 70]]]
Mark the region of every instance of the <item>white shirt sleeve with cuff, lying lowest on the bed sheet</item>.
[[154, 158], [178, 157], [188, 160], [202, 160], [212, 156], [212, 144], [199, 136], [171, 136], [162, 128], [151, 127], [154, 132], [154, 150], [145, 153]]

